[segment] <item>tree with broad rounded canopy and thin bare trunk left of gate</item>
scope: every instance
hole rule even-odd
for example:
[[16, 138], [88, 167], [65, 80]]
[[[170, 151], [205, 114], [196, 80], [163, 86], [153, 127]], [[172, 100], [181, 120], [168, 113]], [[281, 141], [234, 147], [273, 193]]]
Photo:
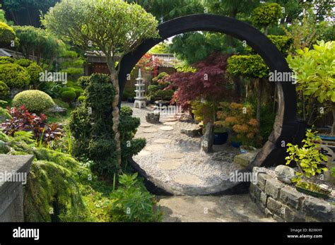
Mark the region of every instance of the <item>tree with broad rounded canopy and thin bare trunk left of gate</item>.
[[139, 47], [143, 40], [158, 37], [158, 21], [138, 4], [122, 0], [62, 0], [50, 9], [43, 25], [62, 40], [81, 47], [93, 47], [107, 58], [115, 88], [113, 132], [118, 168], [121, 170], [119, 133], [119, 71], [123, 56]]

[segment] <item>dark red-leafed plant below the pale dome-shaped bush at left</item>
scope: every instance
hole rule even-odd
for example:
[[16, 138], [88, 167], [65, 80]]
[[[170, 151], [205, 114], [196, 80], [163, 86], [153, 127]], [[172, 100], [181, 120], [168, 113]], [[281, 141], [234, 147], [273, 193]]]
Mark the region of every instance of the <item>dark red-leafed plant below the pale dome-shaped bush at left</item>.
[[46, 124], [45, 114], [31, 114], [25, 106], [7, 107], [11, 119], [7, 119], [2, 124], [3, 132], [8, 136], [13, 136], [17, 131], [30, 131], [38, 141], [49, 143], [63, 135], [61, 124]]

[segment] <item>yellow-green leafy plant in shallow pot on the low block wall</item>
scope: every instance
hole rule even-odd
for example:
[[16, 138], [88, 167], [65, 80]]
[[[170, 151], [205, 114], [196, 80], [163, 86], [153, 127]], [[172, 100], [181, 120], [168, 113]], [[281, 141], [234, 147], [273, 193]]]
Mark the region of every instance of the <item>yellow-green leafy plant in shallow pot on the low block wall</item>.
[[292, 179], [298, 191], [310, 196], [328, 198], [330, 191], [312, 181], [312, 177], [315, 177], [316, 174], [328, 171], [327, 167], [323, 167], [322, 164], [327, 162], [328, 158], [320, 152], [320, 145], [316, 142], [321, 142], [321, 138], [316, 136], [316, 133], [308, 129], [306, 138], [302, 140], [302, 143], [304, 143], [302, 147], [288, 143], [286, 165], [293, 161], [298, 167], [298, 172]]

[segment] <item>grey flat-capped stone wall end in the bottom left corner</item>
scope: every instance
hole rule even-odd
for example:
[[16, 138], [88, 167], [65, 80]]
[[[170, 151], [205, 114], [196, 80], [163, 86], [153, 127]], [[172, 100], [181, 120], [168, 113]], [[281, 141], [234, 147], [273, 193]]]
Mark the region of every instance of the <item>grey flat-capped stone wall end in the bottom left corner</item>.
[[[0, 155], [0, 222], [23, 222], [23, 182], [28, 177], [33, 155]], [[18, 174], [20, 181], [5, 181], [8, 173]], [[8, 180], [8, 179], [7, 179]]]

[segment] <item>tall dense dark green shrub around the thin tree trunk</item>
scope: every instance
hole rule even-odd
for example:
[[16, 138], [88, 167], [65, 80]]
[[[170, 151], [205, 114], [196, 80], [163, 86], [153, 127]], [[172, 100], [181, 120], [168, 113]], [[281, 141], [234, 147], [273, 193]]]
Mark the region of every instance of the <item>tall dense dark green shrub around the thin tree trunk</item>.
[[[105, 74], [90, 76], [90, 82], [84, 91], [84, 102], [71, 113], [69, 123], [75, 138], [74, 155], [92, 160], [93, 171], [110, 180], [117, 169], [110, 106], [115, 90], [111, 79]], [[89, 108], [92, 109], [92, 114], [88, 114]], [[128, 158], [139, 153], [146, 144], [144, 139], [133, 139], [140, 121], [130, 114], [131, 109], [121, 109], [119, 125], [124, 166]]]

